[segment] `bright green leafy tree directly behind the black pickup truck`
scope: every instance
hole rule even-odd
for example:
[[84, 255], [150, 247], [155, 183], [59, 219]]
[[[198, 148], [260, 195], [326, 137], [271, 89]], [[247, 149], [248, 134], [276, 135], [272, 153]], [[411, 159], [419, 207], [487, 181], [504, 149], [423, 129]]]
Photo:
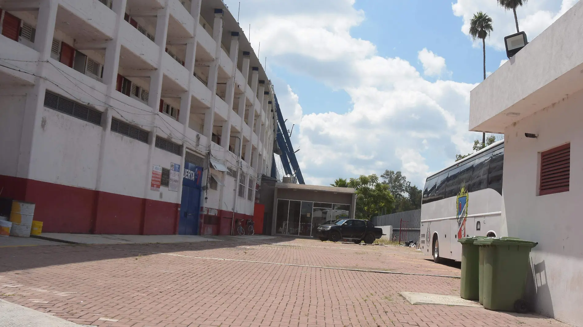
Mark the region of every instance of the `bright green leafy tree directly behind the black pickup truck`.
[[356, 198], [356, 218], [370, 219], [383, 211], [392, 211], [395, 198], [392, 196], [389, 186], [378, 182], [378, 176], [360, 175], [358, 178], [351, 178], [347, 183], [352, 187], [357, 195]]

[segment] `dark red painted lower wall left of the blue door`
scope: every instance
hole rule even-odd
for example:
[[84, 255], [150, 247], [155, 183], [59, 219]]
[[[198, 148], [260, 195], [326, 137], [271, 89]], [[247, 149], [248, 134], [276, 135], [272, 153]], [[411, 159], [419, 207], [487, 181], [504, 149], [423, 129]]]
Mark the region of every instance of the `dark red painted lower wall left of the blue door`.
[[179, 204], [0, 175], [0, 197], [36, 204], [46, 233], [175, 234]]

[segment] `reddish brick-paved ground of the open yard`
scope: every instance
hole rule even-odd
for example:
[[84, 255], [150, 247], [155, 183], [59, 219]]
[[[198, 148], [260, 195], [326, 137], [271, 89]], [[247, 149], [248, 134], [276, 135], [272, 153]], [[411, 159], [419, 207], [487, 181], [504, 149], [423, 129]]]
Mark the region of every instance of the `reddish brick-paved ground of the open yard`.
[[566, 326], [398, 295], [459, 294], [454, 278], [217, 258], [459, 275], [409, 248], [306, 239], [38, 246], [0, 251], [0, 298], [94, 326]]

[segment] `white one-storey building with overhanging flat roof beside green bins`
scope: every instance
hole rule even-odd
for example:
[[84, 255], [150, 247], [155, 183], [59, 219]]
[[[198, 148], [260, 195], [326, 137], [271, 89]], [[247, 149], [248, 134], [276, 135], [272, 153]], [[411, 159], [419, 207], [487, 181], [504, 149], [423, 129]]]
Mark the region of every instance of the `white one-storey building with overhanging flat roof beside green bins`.
[[[583, 326], [581, 35], [578, 2], [472, 91], [469, 126], [504, 133], [508, 235], [539, 242], [531, 253], [529, 300], [536, 312], [575, 326]], [[568, 143], [568, 191], [540, 195], [541, 152]]]

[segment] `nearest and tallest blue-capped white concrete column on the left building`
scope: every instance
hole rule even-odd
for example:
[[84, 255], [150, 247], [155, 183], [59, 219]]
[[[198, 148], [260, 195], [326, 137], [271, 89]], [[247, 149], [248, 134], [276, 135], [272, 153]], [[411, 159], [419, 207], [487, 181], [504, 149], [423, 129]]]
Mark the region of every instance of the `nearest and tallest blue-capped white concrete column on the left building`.
[[217, 98], [217, 76], [219, 74], [219, 58], [220, 58], [220, 41], [223, 37], [223, 9], [215, 9], [215, 22], [213, 23], [213, 40], [215, 40], [215, 58], [209, 68], [209, 83], [210, 90], [210, 110], [205, 113], [205, 126], [203, 127], [203, 135], [206, 136], [210, 142], [213, 133], [213, 123], [215, 122], [215, 105]]

